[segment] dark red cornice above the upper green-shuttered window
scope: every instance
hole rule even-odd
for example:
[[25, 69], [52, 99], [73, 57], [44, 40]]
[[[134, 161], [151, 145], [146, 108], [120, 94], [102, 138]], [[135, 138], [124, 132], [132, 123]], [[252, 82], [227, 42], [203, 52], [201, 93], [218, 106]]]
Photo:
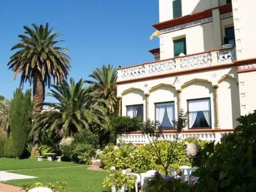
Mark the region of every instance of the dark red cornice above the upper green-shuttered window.
[[[232, 12], [232, 4], [227, 4], [227, 5], [223, 5], [220, 7], [215, 7], [212, 9], [207, 9], [207, 10], [193, 13], [190, 15], [185, 15], [185, 16], [181, 16], [181, 17], [178, 17], [175, 19], [167, 20], [165, 22], [154, 24], [153, 27], [160, 31], [163, 29], [172, 28], [175, 26], [181, 26], [184, 24], [189, 24], [191, 22], [196, 22], [198, 20], [203, 20], [203, 19], [205, 19], [205, 22], [206, 22], [207, 18], [212, 17], [212, 10], [215, 10], [215, 9], [219, 9], [220, 14], [229, 13], [229, 12]], [[208, 20], [208, 22], [209, 22], [209, 20]], [[195, 25], [198, 25], [198, 23]]]

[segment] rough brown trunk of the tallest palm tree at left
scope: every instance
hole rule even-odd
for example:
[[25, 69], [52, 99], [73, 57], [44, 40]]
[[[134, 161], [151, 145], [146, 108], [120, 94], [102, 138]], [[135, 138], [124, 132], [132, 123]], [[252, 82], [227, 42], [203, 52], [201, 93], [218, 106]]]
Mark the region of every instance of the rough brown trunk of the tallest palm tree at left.
[[[38, 70], [35, 71], [33, 77], [33, 102], [34, 102], [34, 119], [40, 115], [42, 111], [42, 104], [45, 100], [45, 83], [42, 80], [42, 76]], [[31, 151], [31, 157], [38, 156], [38, 131], [33, 133], [33, 146]]]

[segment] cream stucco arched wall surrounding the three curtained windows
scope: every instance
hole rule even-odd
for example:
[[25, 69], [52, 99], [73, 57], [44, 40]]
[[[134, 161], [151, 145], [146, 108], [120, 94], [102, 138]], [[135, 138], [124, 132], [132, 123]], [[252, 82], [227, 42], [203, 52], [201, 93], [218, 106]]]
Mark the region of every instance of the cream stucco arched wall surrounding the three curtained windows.
[[[231, 77], [224, 78], [220, 83], [218, 80], [225, 77], [225, 75], [230, 75]], [[187, 86], [182, 86], [184, 83], [196, 80]], [[208, 81], [208, 82], [205, 82]], [[122, 97], [122, 115], [126, 115], [126, 105], [133, 104], [144, 104], [144, 119], [145, 119], [145, 93], [150, 93], [148, 98], [148, 117], [150, 119], [155, 119], [155, 103], [174, 101], [175, 102], [175, 114], [177, 118], [177, 92], [176, 90], [182, 89], [181, 92], [181, 108], [187, 111], [187, 99], [198, 99], [198, 98], [211, 98], [211, 123], [212, 128], [215, 127], [215, 113], [214, 113], [214, 89], [212, 85], [219, 85], [218, 95], [219, 95], [219, 119], [221, 129], [231, 129], [236, 123], [234, 123], [234, 118], [240, 115], [239, 106], [239, 91], [237, 85], [237, 68], [227, 68], [219, 70], [210, 70], [205, 72], [197, 72], [191, 74], [180, 75], [176, 79], [175, 76], [169, 76], [164, 78], [150, 79], [144, 81], [136, 81], [124, 84], [118, 84], [117, 86], [117, 96]], [[153, 87], [159, 84], [168, 84], [168, 86], [160, 86], [153, 91]], [[128, 89], [135, 88], [140, 89], [132, 90], [122, 93]], [[230, 96], [231, 95], [231, 96]], [[230, 99], [231, 97], [231, 99]], [[233, 115], [232, 115], [233, 114]]]

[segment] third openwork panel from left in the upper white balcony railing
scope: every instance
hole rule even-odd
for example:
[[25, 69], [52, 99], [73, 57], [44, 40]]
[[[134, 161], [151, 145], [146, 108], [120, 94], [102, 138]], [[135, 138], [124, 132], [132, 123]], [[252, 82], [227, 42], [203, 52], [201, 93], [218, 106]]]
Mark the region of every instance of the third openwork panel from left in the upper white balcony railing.
[[202, 55], [194, 55], [190, 57], [184, 57], [181, 59], [181, 68], [190, 68], [197, 66], [209, 65], [211, 63], [210, 53]]

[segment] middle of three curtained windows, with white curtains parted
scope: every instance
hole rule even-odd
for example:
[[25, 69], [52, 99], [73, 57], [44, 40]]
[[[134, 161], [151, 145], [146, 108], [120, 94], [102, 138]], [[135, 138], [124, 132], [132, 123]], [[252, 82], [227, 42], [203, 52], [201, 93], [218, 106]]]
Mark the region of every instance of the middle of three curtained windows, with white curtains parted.
[[173, 128], [175, 119], [174, 102], [156, 103], [156, 121], [162, 124], [163, 128]]

